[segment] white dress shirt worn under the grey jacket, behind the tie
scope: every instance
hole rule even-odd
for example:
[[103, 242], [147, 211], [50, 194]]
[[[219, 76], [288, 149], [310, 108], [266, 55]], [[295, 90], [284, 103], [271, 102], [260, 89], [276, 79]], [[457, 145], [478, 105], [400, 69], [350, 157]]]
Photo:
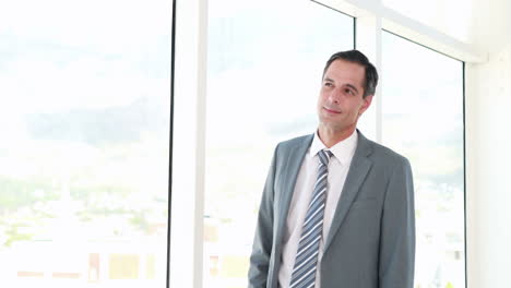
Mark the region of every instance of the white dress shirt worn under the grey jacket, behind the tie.
[[[341, 197], [341, 192], [343, 191], [344, 181], [346, 180], [349, 164], [352, 163], [356, 146], [357, 132], [355, 131], [350, 136], [330, 148], [333, 156], [330, 158], [329, 163], [323, 236], [319, 244], [318, 267], [320, 266], [321, 257], [323, 256], [324, 240], [329, 235], [335, 207], [337, 206], [338, 199]], [[289, 212], [287, 214], [283, 239], [282, 264], [281, 269], [278, 271], [278, 286], [283, 288], [289, 287], [293, 266], [295, 265], [295, 256], [301, 236], [304, 218], [306, 216], [310, 197], [312, 196], [312, 191], [314, 189], [316, 178], [318, 176], [318, 152], [322, 149], [328, 148], [323, 142], [321, 142], [318, 136], [318, 132], [316, 132], [314, 139], [312, 140], [310, 148], [301, 164], [300, 171], [298, 172], [293, 199], [289, 205]], [[320, 288], [320, 269], [318, 268], [316, 274], [316, 288]]]

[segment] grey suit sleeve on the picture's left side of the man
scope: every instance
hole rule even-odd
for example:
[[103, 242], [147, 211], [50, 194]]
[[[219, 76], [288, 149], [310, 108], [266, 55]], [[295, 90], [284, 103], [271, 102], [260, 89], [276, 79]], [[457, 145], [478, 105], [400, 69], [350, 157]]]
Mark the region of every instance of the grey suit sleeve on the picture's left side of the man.
[[266, 177], [261, 204], [259, 206], [258, 223], [255, 236], [252, 244], [249, 266], [249, 287], [266, 287], [268, 273], [270, 267], [270, 257], [273, 243], [273, 200], [274, 200], [274, 180], [276, 170], [275, 148], [272, 165]]

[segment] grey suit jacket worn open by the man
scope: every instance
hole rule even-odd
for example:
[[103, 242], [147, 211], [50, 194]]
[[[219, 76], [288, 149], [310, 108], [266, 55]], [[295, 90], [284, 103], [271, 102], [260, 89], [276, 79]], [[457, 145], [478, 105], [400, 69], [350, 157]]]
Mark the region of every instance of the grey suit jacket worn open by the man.
[[[259, 209], [249, 287], [277, 287], [283, 232], [313, 135], [280, 143]], [[358, 132], [320, 264], [321, 288], [412, 288], [414, 185], [408, 160]]]

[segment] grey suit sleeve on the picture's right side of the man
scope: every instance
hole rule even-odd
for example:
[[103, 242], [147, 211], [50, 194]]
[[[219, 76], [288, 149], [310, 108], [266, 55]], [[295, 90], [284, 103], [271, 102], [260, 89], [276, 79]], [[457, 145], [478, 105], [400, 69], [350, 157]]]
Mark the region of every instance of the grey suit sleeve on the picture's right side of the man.
[[415, 268], [414, 183], [403, 158], [391, 175], [381, 218], [379, 287], [412, 288]]

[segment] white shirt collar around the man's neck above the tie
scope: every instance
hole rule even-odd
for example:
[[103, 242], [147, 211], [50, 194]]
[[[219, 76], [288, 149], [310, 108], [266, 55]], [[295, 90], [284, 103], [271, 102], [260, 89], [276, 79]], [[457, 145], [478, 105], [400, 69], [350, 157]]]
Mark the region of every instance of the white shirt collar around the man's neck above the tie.
[[338, 142], [333, 145], [330, 149], [323, 144], [321, 139], [318, 135], [318, 131], [314, 133], [314, 139], [310, 144], [310, 155], [314, 157], [322, 149], [329, 149], [332, 152], [333, 156], [341, 163], [341, 165], [348, 164], [355, 154], [355, 148], [357, 147], [358, 132], [355, 130], [352, 135], [347, 139]]

